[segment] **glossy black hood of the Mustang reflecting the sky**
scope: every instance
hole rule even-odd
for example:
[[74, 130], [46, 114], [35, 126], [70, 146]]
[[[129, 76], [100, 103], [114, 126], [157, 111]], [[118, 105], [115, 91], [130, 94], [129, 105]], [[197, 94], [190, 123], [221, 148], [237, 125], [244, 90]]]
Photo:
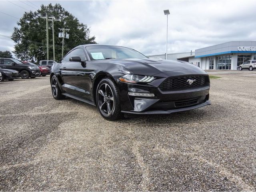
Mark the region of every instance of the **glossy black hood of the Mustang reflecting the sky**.
[[108, 62], [122, 65], [130, 72], [138, 75], [155, 75], [162, 72], [168, 71], [179, 71], [179, 70], [190, 70], [194, 73], [202, 74], [202, 69], [194, 64], [183, 63], [172, 60], [162, 59], [110, 59]]

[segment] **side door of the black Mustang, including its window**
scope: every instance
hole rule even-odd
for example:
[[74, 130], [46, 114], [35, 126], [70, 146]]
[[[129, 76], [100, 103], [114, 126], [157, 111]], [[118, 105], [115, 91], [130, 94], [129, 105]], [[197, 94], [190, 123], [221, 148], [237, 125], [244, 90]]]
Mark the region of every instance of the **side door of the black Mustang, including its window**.
[[[79, 56], [84, 62], [70, 61], [69, 58], [74, 56]], [[82, 48], [72, 50], [63, 58], [60, 67], [62, 87], [69, 94], [92, 100], [90, 73], [93, 69], [89, 69], [86, 62], [88, 61]]]

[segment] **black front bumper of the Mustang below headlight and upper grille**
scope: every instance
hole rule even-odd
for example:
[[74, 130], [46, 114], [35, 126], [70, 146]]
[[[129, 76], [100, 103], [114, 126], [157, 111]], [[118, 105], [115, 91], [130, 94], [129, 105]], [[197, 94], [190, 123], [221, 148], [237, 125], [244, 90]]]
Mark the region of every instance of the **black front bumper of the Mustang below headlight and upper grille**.
[[[162, 80], [141, 85], [117, 80], [120, 91], [121, 112], [128, 114], [170, 114], [210, 105], [210, 84], [200, 88], [178, 91], [162, 91]], [[130, 96], [128, 92], [153, 93], [154, 97]]]

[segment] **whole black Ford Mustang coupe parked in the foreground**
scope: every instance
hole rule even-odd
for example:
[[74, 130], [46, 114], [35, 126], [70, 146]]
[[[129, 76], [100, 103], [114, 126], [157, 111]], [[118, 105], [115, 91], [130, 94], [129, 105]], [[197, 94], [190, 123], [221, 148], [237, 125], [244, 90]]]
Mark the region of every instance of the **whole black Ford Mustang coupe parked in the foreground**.
[[123, 113], [170, 114], [210, 105], [204, 70], [121, 46], [77, 46], [52, 66], [50, 82], [55, 99], [68, 96], [98, 106], [107, 120]]

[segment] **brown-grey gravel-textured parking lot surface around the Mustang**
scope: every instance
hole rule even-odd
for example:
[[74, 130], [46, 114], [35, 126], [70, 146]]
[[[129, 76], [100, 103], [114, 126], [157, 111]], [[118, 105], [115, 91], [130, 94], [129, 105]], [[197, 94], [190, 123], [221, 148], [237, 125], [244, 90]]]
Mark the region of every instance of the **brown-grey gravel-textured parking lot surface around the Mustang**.
[[0, 190], [255, 191], [256, 71], [210, 73], [211, 106], [116, 122], [49, 76], [0, 82]]

